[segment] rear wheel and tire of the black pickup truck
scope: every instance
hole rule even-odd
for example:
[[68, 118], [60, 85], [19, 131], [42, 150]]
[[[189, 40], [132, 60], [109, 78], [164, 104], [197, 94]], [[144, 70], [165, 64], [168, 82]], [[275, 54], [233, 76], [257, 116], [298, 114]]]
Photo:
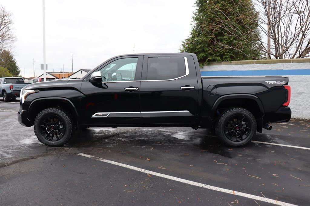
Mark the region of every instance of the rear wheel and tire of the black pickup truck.
[[223, 143], [236, 147], [249, 143], [256, 130], [257, 124], [253, 114], [240, 107], [224, 111], [215, 127], [215, 132]]

